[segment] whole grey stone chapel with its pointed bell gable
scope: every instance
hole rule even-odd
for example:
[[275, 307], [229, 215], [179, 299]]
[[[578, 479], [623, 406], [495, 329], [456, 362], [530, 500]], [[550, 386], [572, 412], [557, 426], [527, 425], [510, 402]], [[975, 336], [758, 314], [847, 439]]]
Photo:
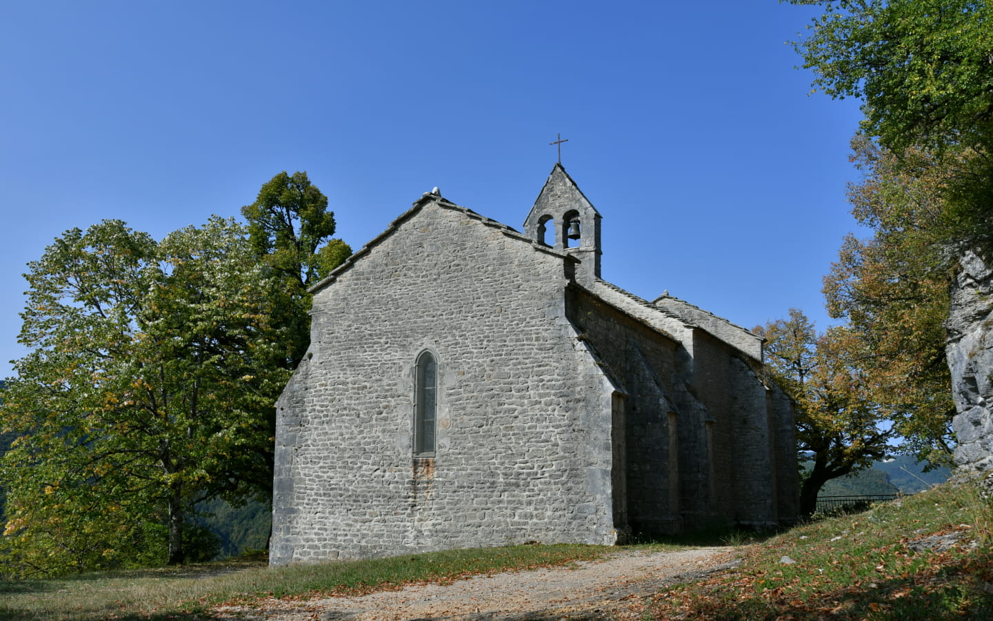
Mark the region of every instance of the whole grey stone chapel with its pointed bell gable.
[[271, 564], [797, 518], [762, 339], [601, 279], [600, 232], [556, 164], [523, 233], [436, 189], [314, 286]]

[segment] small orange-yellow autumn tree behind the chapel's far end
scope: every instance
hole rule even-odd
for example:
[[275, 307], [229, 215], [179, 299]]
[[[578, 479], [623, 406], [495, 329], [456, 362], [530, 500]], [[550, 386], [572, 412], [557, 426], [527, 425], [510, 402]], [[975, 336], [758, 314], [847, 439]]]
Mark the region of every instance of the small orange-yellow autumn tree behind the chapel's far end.
[[817, 493], [831, 479], [882, 459], [892, 432], [865, 390], [866, 352], [844, 327], [818, 336], [802, 312], [757, 326], [766, 339], [767, 368], [796, 404], [800, 461], [809, 461], [800, 488], [800, 512], [810, 515]]

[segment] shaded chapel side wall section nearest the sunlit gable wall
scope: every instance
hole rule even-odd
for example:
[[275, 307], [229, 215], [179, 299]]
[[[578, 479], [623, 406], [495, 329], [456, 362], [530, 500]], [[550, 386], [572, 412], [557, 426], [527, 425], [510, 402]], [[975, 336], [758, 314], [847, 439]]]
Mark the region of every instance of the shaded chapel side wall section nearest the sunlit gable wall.
[[678, 480], [684, 476], [686, 465], [670, 452], [675, 444], [670, 441], [674, 439], [671, 434], [678, 434], [683, 425], [698, 424], [691, 414], [677, 413], [673, 405], [673, 399], [684, 389], [675, 381], [678, 344], [582, 290], [570, 289], [567, 302], [568, 316], [577, 331], [589, 340], [608, 373], [621, 379], [621, 388], [627, 393], [629, 526], [636, 535], [678, 533], [683, 526]]

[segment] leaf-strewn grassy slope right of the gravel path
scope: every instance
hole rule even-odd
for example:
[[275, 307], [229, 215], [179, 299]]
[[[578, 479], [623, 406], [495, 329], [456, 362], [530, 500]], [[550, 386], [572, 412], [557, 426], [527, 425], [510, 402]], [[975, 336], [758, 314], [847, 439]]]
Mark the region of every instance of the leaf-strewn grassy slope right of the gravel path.
[[[993, 506], [944, 485], [750, 548], [736, 570], [659, 593], [646, 619], [991, 619]], [[955, 534], [949, 549], [911, 544]], [[783, 563], [788, 556], [794, 562]]]

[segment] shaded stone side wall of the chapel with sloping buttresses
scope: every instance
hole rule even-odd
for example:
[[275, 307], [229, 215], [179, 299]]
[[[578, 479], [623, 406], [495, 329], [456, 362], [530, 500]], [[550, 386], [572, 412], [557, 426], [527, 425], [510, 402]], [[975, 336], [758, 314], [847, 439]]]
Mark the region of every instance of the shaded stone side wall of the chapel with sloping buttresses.
[[577, 330], [627, 394], [635, 534], [702, 528], [715, 519], [756, 527], [795, 520], [792, 409], [760, 380], [758, 362], [702, 330], [693, 331], [688, 353], [584, 289], [570, 291], [567, 301]]

